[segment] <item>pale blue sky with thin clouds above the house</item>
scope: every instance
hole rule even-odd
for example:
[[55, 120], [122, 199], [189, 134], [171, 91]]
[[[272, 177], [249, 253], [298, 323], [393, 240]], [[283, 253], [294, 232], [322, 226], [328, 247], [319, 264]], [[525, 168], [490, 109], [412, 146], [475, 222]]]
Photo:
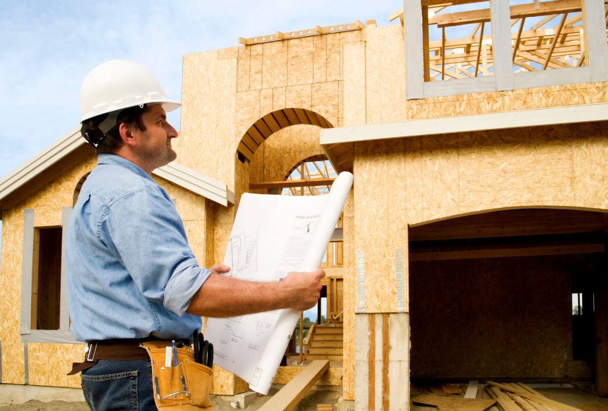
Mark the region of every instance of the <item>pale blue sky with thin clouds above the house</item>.
[[[81, 82], [103, 61], [136, 61], [179, 99], [184, 54], [317, 24], [395, 24], [389, 16], [403, 2], [1, 0], [0, 6], [1, 180], [78, 125]], [[179, 109], [169, 120], [179, 130]]]

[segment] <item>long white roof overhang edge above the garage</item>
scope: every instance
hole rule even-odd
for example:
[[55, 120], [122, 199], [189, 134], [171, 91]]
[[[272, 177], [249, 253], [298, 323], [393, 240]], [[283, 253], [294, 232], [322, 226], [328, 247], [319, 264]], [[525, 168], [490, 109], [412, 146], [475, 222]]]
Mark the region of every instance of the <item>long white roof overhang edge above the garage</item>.
[[[370, 124], [320, 130], [321, 147], [330, 161], [339, 162], [336, 148], [344, 150], [359, 141], [431, 136], [434, 134], [466, 133], [470, 131], [502, 130], [530, 126], [586, 123], [608, 120], [608, 103], [551, 107], [529, 110], [469, 114], [467, 116], [436, 117], [403, 122]], [[345, 156], [345, 154], [341, 154]], [[333, 162], [333, 161], [332, 161]], [[339, 164], [334, 167], [340, 168]]]

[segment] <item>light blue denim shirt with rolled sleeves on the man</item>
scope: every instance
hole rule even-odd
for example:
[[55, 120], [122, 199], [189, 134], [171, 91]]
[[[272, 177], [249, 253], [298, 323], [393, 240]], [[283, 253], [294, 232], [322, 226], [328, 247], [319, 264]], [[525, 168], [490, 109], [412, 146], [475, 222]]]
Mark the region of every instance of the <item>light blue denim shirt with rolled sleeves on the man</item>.
[[185, 313], [209, 277], [167, 192], [141, 168], [100, 154], [67, 226], [70, 330], [80, 341], [189, 338]]

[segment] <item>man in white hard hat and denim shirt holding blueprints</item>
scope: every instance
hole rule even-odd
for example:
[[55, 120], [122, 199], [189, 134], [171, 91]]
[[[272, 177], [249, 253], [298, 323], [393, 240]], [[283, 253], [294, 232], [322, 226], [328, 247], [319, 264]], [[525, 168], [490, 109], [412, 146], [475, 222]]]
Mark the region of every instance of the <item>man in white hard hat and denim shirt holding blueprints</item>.
[[223, 264], [199, 267], [173, 202], [150, 176], [176, 158], [171, 140], [178, 132], [165, 112], [179, 103], [130, 61], [95, 67], [80, 98], [82, 133], [99, 155], [67, 229], [71, 331], [89, 343], [72, 373], [82, 371], [91, 409], [154, 409], [140, 342], [188, 340], [200, 330], [200, 316], [311, 308], [325, 272], [257, 283], [224, 277]]

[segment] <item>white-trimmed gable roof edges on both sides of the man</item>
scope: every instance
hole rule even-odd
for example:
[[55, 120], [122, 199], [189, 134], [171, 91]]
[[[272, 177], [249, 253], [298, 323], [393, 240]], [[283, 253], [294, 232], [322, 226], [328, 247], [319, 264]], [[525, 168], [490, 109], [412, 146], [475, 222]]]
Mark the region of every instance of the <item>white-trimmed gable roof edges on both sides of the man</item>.
[[[80, 136], [80, 126], [69, 131], [0, 180], [0, 210], [15, 206], [22, 199], [44, 187], [55, 176], [90, 155], [91, 148]], [[234, 193], [228, 190], [226, 183], [216, 181], [177, 162], [157, 168], [153, 174], [222, 206], [227, 206], [228, 203], [234, 204]]]

